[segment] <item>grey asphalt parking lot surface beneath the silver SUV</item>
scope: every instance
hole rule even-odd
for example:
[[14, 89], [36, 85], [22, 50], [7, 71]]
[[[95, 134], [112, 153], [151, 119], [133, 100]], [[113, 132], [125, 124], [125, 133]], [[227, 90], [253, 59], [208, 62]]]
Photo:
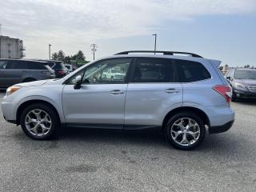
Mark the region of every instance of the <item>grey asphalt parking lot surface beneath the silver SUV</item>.
[[[0, 102], [4, 93], [0, 93]], [[256, 102], [192, 151], [161, 134], [63, 130], [34, 141], [0, 112], [0, 191], [256, 191]]]

